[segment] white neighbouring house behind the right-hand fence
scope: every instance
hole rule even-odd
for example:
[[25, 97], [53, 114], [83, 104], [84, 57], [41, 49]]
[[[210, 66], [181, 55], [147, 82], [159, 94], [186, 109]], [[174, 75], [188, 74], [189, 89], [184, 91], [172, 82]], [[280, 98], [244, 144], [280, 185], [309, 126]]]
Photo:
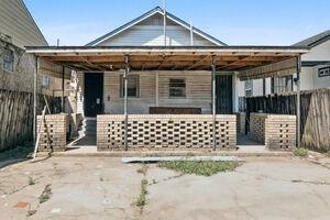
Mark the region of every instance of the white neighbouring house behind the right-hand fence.
[[[330, 87], [330, 30], [306, 38], [294, 46], [308, 46], [301, 56], [300, 89], [312, 90]], [[239, 84], [239, 96], [264, 96], [296, 91], [293, 76], [248, 80]]]

